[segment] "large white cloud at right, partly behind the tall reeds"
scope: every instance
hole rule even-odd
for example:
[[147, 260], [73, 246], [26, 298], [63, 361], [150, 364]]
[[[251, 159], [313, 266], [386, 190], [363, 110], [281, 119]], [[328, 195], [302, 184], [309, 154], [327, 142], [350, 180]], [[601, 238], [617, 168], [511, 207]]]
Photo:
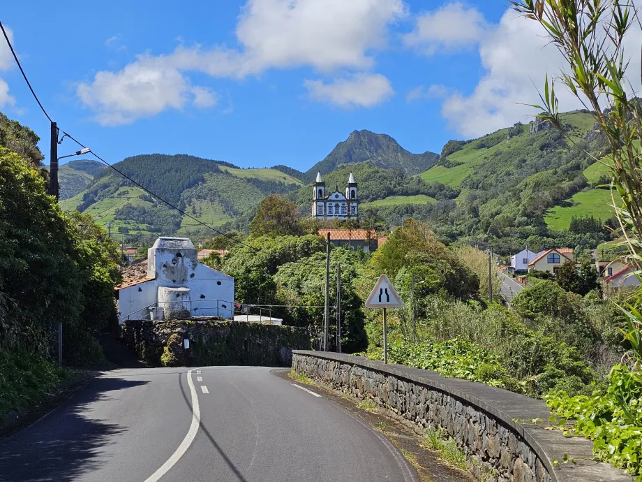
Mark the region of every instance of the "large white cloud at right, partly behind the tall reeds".
[[[626, 38], [630, 48], [625, 52], [634, 55], [629, 72], [640, 71], [636, 54], [641, 41], [639, 30], [630, 31]], [[507, 10], [499, 24], [488, 26], [478, 40], [478, 49], [484, 74], [475, 89], [470, 94], [454, 92], [442, 103], [442, 116], [451, 129], [470, 137], [530, 120], [537, 112], [525, 104], [540, 104], [537, 92], [544, 86], [546, 73], [551, 79], [562, 68], [562, 56], [549, 45], [544, 29], [512, 10]], [[635, 89], [639, 86], [636, 80]], [[561, 84], [555, 92], [560, 111], [583, 107]]]

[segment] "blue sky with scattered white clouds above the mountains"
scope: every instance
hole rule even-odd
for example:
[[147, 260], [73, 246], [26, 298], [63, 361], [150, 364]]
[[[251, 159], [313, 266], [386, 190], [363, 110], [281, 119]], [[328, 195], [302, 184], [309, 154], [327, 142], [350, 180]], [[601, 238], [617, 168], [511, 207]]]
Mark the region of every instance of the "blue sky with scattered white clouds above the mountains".
[[[354, 129], [440, 152], [528, 122], [517, 103], [559, 64], [502, 0], [34, 0], [0, 15], [52, 118], [110, 162], [307, 170]], [[47, 119], [2, 43], [0, 110], [48, 154]]]

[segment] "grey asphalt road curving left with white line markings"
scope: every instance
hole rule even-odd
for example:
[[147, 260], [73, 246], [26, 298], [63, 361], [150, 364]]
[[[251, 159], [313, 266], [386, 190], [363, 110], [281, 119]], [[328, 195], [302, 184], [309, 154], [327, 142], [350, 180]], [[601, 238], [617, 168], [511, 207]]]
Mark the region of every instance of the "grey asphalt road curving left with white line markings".
[[319, 394], [264, 367], [110, 372], [0, 440], [0, 481], [417, 481]]

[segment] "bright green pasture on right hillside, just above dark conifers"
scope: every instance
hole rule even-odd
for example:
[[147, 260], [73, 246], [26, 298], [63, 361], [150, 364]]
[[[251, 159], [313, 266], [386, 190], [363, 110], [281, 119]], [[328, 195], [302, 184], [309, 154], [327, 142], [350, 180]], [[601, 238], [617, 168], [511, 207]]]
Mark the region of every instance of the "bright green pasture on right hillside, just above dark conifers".
[[571, 206], [555, 206], [546, 212], [544, 221], [550, 229], [568, 229], [574, 216], [593, 216], [606, 221], [613, 216], [611, 191], [590, 189], [578, 192], [570, 200]]

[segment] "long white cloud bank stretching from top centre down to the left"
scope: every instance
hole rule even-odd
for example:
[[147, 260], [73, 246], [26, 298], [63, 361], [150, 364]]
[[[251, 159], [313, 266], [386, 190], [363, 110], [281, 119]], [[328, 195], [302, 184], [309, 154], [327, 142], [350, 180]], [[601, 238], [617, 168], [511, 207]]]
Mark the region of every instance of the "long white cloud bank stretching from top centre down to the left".
[[[387, 45], [388, 25], [403, 15], [403, 0], [248, 0], [237, 24], [238, 50], [179, 45], [170, 54], [140, 55], [121, 71], [100, 71], [91, 82], [80, 83], [77, 95], [97, 112], [100, 123], [123, 124], [168, 108], [184, 108], [189, 94], [195, 96], [197, 107], [214, 105], [216, 96], [209, 90], [209, 96], [204, 94], [205, 87], [192, 86], [185, 77], [189, 71], [215, 78], [244, 78], [270, 68], [299, 66], [322, 72], [363, 71], [374, 64], [372, 51]], [[368, 94], [354, 92], [348, 99], [357, 78], [321, 83], [316, 90], [343, 89], [344, 103], [371, 105]], [[391, 92], [389, 81], [382, 78], [371, 75], [366, 87]], [[359, 79], [362, 85], [368, 80]]]

